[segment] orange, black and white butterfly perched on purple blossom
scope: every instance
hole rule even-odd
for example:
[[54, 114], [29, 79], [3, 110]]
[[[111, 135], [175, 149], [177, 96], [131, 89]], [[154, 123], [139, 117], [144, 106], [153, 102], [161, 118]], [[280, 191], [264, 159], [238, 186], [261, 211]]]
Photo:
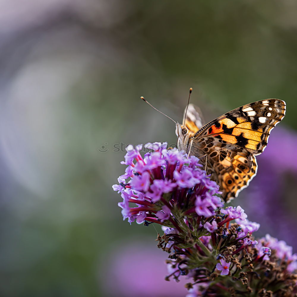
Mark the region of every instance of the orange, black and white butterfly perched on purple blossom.
[[[186, 111], [187, 110], [187, 111]], [[271, 130], [285, 116], [286, 103], [266, 99], [238, 107], [208, 124], [189, 104], [183, 124], [176, 122], [177, 147], [200, 158], [226, 202], [236, 198], [257, 173], [257, 155], [266, 148]]]

